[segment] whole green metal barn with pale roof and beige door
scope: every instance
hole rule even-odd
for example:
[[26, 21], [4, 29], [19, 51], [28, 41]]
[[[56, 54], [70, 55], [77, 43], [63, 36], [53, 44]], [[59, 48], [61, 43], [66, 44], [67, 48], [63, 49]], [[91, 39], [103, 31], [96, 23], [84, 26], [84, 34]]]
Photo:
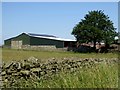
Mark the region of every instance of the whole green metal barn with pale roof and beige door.
[[76, 40], [62, 39], [53, 35], [22, 33], [16, 37], [4, 40], [5, 46], [21, 48], [24, 45], [40, 46], [40, 45], [54, 45], [56, 48], [69, 47]]

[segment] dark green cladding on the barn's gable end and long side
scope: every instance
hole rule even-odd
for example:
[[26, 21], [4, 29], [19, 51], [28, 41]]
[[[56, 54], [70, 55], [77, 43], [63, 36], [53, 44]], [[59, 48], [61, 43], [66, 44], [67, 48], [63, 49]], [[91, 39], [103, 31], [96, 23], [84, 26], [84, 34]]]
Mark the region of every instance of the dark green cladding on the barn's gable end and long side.
[[56, 48], [63, 48], [64, 41], [32, 37], [22, 33], [16, 37], [4, 41], [6, 46], [11, 46], [11, 41], [22, 41], [22, 45], [55, 45]]

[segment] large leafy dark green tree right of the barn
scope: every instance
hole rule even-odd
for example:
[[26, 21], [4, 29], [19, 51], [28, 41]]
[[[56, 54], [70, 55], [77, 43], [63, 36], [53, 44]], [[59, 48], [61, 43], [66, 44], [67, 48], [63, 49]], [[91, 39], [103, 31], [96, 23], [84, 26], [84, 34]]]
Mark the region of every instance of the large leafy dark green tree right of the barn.
[[104, 41], [106, 46], [110, 44], [117, 35], [115, 30], [108, 15], [101, 10], [94, 10], [89, 11], [73, 28], [72, 35], [80, 43], [93, 42], [96, 49], [96, 42]]

